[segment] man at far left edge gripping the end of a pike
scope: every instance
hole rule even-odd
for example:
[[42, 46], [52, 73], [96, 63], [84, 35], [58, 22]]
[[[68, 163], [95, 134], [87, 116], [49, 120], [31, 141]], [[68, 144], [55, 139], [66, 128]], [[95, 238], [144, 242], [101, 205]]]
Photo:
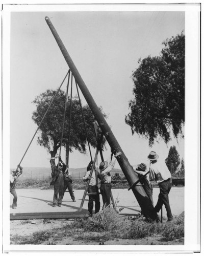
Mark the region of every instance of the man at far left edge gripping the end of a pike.
[[22, 174], [22, 169], [23, 168], [20, 165], [18, 165], [17, 172], [13, 170], [12, 174], [10, 175], [10, 193], [13, 195], [13, 209], [16, 209], [17, 207], [16, 181], [18, 177]]

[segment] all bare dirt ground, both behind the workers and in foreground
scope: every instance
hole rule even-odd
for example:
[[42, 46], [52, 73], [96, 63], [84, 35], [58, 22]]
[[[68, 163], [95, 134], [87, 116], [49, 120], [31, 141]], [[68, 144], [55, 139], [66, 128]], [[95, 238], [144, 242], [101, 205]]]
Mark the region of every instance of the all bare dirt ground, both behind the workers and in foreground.
[[[77, 202], [72, 202], [69, 194], [63, 200], [62, 207], [52, 207], [53, 190], [40, 190], [40, 189], [17, 189], [18, 202], [17, 209], [12, 209], [12, 195], [10, 197], [10, 214], [24, 213], [24, 212], [77, 212], [79, 211], [81, 199], [83, 197], [83, 190], [75, 190], [74, 194]], [[123, 216], [135, 216], [138, 215], [140, 207], [135, 199], [133, 193], [127, 191], [127, 189], [112, 189], [114, 199], [118, 200], [118, 208], [123, 208], [120, 214]], [[154, 202], [157, 202], [159, 189], [154, 188]], [[179, 216], [184, 211], [184, 188], [172, 188], [169, 194], [170, 206], [173, 215]], [[88, 198], [86, 198], [83, 209], [87, 214]], [[163, 207], [164, 221], [166, 217], [166, 210]], [[37, 236], [42, 232], [42, 237], [39, 236], [39, 244], [44, 245], [181, 245], [184, 244], [184, 239], [176, 239], [173, 241], [165, 242], [161, 240], [160, 235], [151, 237], [145, 237], [142, 239], [114, 239], [106, 240], [99, 239], [100, 233], [94, 234], [94, 232], [84, 232], [83, 239], [79, 236], [74, 236], [74, 232], [66, 233], [65, 236], [58, 234], [54, 230], [66, 229], [66, 225], [72, 223], [70, 219], [30, 219], [30, 220], [11, 220], [10, 221], [10, 243], [11, 244], [23, 244], [24, 240]], [[85, 230], [86, 231], [86, 230]], [[51, 232], [51, 233], [50, 233]], [[37, 233], [37, 234], [35, 234]], [[49, 234], [50, 236], [46, 236]], [[79, 232], [78, 232], [79, 235]], [[90, 239], [89, 237], [96, 237], [97, 239]], [[87, 239], [86, 239], [87, 237]], [[42, 240], [41, 240], [42, 238]], [[35, 244], [35, 243], [33, 243]]]

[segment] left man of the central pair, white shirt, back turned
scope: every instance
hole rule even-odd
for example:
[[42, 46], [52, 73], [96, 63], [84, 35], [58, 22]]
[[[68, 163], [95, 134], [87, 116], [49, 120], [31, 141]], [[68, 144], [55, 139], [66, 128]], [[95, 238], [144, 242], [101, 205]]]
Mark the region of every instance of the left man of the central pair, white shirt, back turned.
[[95, 166], [94, 166], [93, 173], [90, 177], [92, 166], [93, 166], [93, 162], [91, 161], [87, 166], [86, 175], [82, 178], [83, 181], [90, 180], [90, 183], [89, 183], [89, 186], [88, 186], [88, 193], [96, 193], [96, 195], [90, 195], [89, 196], [88, 211], [89, 211], [89, 216], [90, 217], [92, 217], [93, 202], [94, 201], [95, 201], [95, 214], [97, 214], [97, 212], [100, 210], [100, 197], [99, 197], [99, 192], [98, 192], [98, 179], [100, 179], [100, 174], [95, 169]]

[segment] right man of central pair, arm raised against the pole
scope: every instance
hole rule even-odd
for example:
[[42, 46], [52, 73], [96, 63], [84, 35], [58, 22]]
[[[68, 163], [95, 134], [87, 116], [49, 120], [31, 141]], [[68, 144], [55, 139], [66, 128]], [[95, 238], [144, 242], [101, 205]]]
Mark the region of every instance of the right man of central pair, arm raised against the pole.
[[[115, 158], [117, 158], [119, 155], [121, 155], [121, 152], [118, 152], [115, 154]], [[111, 162], [108, 163], [108, 161], [103, 161], [99, 165], [100, 169], [100, 193], [103, 199], [103, 209], [107, 206], [110, 206], [111, 203], [111, 175], [110, 171], [113, 169], [115, 165], [116, 159], [112, 158], [113, 153], [111, 154]]]

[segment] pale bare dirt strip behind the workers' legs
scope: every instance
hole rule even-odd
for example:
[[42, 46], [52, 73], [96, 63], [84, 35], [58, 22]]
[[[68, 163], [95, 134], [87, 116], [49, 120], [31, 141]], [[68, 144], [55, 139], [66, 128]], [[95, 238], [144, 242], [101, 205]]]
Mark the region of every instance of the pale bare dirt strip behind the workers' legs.
[[[27, 212], [69, 212], [77, 214], [84, 195], [84, 190], [75, 190], [74, 196], [77, 202], [72, 202], [69, 193], [66, 193], [61, 207], [52, 207], [53, 205], [53, 189], [16, 189], [18, 195], [17, 208], [12, 209], [13, 196], [10, 194], [10, 214], [20, 214]], [[141, 210], [132, 191], [127, 189], [112, 189], [114, 201], [117, 206], [123, 208], [121, 214], [135, 215]], [[153, 199], [156, 204], [159, 195], [159, 188], [154, 188]], [[101, 207], [102, 198], [100, 196]], [[184, 211], [184, 187], [172, 187], [169, 193], [169, 202], [172, 214], [179, 216]], [[88, 213], [88, 197], [86, 197], [83, 211]], [[166, 216], [166, 209], [163, 207], [163, 216]]]

